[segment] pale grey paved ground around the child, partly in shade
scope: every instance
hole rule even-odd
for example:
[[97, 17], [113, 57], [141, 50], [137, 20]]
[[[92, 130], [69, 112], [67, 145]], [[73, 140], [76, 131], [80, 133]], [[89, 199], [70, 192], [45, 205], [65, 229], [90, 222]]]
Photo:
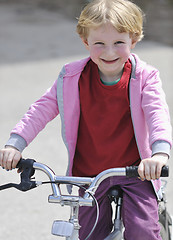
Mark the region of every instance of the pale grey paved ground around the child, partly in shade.
[[[9, 132], [30, 104], [52, 85], [66, 62], [85, 57], [87, 52], [75, 34], [75, 20], [61, 13], [27, 8], [22, 5], [0, 5], [0, 147]], [[172, 109], [173, 48], [154, 42], [140, 43], [138, 55], [160, 69], [163, 87]], [[60, 120], [49, 123], [24, 151], [46, 163], [58, 175], [65, 174], [67, 153], [61, 140]], [[170, 160], [170, 169], [173, 163]], [[38, 175], [41, 178], [42, 175]], [[0, 184], [18, 182], [18, 175], [0, 169]], [[172, 175], [167, 187], [168, 207], [173, 214]], [[50, 187], [40, 187], [27, 193], [13, 189], [0, 192], [0, 239], [53, 240], [52, 221], [67, 219], [68, 208], [47, 204]]]

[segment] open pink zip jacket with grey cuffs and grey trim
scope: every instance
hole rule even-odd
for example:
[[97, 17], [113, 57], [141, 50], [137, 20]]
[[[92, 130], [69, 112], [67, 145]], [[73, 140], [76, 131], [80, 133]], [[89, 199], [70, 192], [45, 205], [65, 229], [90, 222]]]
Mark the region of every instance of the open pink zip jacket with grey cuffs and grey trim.
[[[130, 58], [131, 116], [140, 157], [144, 159], [156, 152], [169, 152], [172, 130], [158, 71], [134, 54]], [[12, 130], [8, 145], [15, 145], [23, 150], [45, 125], [60, 113], [62, 137], [69, 155], [67, 173], [72, 174], [80, 116], [78, 81], [88, 60], [89, 58], [86, 58], [63, 67], [53, 86], [31, 105], [23, 119]], [[14, 141], [16, 136], [18, 140]], [[153, 183], [158, 192], [160, 181]]]

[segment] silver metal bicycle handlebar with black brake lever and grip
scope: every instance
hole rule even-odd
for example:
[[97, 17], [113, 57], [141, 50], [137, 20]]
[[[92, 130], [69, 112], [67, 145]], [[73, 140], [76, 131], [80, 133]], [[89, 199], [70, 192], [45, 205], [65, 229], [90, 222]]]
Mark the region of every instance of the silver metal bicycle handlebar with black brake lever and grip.
[[[42, 184], [42, 182], [32, 181], [32, 176], [35, 173], [35, 170], [41, 170], [49, 177], [52, 186], [53, 195], [49, 196], [49, 202], [57, 202], [62, 203], [69, 201], [78, 201], [81, 205], [91, 205], [91, 201], [89, 201], [91, 192], [94, 194], [100, 185], [100, 183], [112, 176], [127, 176], [127, 177], [136, 177], [138, 175], [138, 167], [131, 166], [125, 168], [112, 168], [105, 170], [98, 174], [95, 178], [90, 177], [70, 177], [70, 176], [56, 176], [55, 173], [45, 164], [38, 163], [33, 159], [21, 159], [17, 164], [17, 168], [21, 171], [21, 183], [14, 184], [9, 183], [3, 186], [0, 186], [0, 190], [15, 187], [20, 191], [28, 191]], [[169, 176], [169, 168], [168, 166], [164, 166], [162, 168], [161, 177]], [[60, 191], [60, 184], [78, 184], [78, 185], [88, 185], [89, 188], [85, 193], [84, 197], [77, 196], [63, 196]], [[91, 200], [91, 199], [90, 199]]]

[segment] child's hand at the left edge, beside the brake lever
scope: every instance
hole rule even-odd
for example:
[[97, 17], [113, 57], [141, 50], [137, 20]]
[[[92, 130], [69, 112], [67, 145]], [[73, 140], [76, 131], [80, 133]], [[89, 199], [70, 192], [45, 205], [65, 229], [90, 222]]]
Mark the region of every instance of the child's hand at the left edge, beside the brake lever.
[[6, 170], [12, 170], [16, 168], [21, 157], [22, 155], [17, 149], [8, 146], [0, 150], [0, 166]]

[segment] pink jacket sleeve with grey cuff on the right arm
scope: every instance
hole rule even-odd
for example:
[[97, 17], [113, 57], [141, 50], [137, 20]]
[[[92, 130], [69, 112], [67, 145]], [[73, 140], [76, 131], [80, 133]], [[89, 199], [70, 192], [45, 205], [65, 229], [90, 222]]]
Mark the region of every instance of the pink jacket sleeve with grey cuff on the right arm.
[[150, 146], [152, 146], [153, 152], [158, 152], [159, 143], [167, 142], [169, 148], [172, 145], [169, 109], [159, 72], [153, 69], [147, 77], [143, 76], [143, 79], [145, 79], [145, 83], [142, 91], [142, 109], [148, 125]]

